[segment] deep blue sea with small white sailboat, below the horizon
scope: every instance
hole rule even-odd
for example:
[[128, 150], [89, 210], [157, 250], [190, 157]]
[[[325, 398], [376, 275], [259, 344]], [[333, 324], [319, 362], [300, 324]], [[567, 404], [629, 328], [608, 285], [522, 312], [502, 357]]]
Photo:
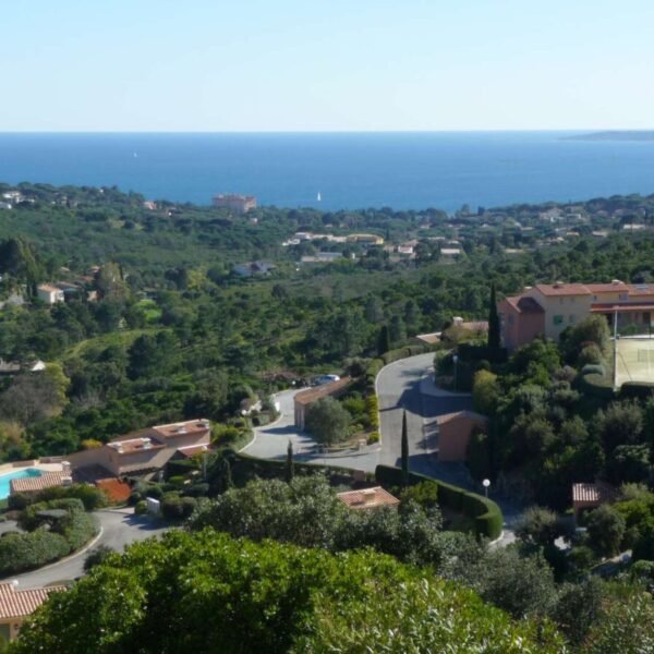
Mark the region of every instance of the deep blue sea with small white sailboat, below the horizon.
[[[577, 132], [580, 133], [580, 132]], [[148, 199], [452, 211], [654, 193], [654, 141], [569, 132], [0, 134], [0, 181], [117, 185]], [[317, 201], [318, 193], [322, 201]]]

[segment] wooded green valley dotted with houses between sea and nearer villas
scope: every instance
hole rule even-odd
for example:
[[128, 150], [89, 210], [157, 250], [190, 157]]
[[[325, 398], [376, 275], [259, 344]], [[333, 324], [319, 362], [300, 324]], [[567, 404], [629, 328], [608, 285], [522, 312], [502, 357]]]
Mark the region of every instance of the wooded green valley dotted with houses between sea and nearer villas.
[[[185, 416], [225, 420], [244, 398], [275, 390], [279, 371], [360, 366], [384, 328], [395, 348], [453, 316], [485, 318], [492, 281], [501, 294], [557, 279], [654, 280], [652, 197], [455, 216], [233, 216], [147, 208], [116, 189], [0, 186], [7, 193], [19, 197], [0, 209], [0, 359], [41, 359], [50, 371], [0, 378], [3, 459]], [[291, 238], [300, 231], [305, 240]], [[347, 241], [362, 232], [384, 243]], [[342, 256], [301, 262], [324, 251]], [[234, 271], [254, 259], [274, 267]], [[66, 301], [39, 301], [43, 282], [62, 284]]]

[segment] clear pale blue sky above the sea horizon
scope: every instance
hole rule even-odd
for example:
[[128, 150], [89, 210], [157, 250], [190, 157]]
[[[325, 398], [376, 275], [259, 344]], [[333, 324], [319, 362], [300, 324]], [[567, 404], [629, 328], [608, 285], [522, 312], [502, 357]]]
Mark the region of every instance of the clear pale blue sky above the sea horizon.
[[651, 0], [2, 5], [2, 132], [654, 129]]

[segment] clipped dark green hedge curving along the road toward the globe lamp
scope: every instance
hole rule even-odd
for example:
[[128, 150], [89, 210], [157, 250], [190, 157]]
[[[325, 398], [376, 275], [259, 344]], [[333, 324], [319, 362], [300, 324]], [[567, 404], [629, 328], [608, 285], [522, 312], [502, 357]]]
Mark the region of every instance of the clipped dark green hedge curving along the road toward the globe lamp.
[[[402, 484], [402, 471], [390, 465], [377, 465], [375, 477], [380, 484], [400, 486]], [[504, 517], [500, 508], [492, 499], [469, 493], [468, 491], [434, 480], [416, 472], [409, 473], [409, 484], [429, 482], [438, 486], [438, 504], [441, 507], [459, 511], [465, 517], [474, 520], [474, 531], [477, 536], [485, 536], [494, 541], [501, 535]]]

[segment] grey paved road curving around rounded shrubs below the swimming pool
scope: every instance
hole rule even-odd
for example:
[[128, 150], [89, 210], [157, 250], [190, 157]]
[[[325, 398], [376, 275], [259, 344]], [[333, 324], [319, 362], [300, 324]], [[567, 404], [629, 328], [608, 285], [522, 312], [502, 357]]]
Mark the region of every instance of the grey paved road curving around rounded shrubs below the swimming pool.
[[[94, 547], [100, 544], [108, 545], [117, 552], [122, 552], [125, 545], [130, 543], [161, 534], [169, 529], [161, 523], [152, 522], [149, 518], [134, 516], [133, 509], [101, 510], [96, 511], [94, 514], [102, 528], [102, 533]], [[4, 530], [12, 529], [12, 526], [15, 525], [7, 523]], [[76, 579], [84, 574], [84, 559], [87, 554], [83, 550], [45, 568], [13, 576], [3, 581], [17, 579], [21, 589], [34, 589]]]

